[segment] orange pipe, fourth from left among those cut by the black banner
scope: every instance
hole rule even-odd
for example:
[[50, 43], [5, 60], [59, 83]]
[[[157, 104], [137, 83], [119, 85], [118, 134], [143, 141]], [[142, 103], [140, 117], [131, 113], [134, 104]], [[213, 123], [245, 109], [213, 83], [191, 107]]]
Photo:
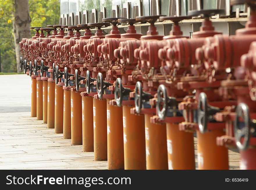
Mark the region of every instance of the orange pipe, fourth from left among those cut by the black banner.
[[168, 168], [195, 169], [194, 134], [179, 131], [179, 124], [166, 123]]

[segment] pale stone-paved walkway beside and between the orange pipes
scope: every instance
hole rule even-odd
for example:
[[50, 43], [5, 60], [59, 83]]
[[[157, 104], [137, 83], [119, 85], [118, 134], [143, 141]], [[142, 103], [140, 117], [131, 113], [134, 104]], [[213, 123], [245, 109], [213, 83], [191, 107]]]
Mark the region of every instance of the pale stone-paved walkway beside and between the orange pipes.
[[[30, 117], [29, 76], [0, 75], [0, 81], [0, 169], [107, 169], [106, 161], [93, 161], [93, 152], [71, 146], [71, 140]], [[239, 159], [237, 149], [230, 149], [230, 169], [239, 169]]]

